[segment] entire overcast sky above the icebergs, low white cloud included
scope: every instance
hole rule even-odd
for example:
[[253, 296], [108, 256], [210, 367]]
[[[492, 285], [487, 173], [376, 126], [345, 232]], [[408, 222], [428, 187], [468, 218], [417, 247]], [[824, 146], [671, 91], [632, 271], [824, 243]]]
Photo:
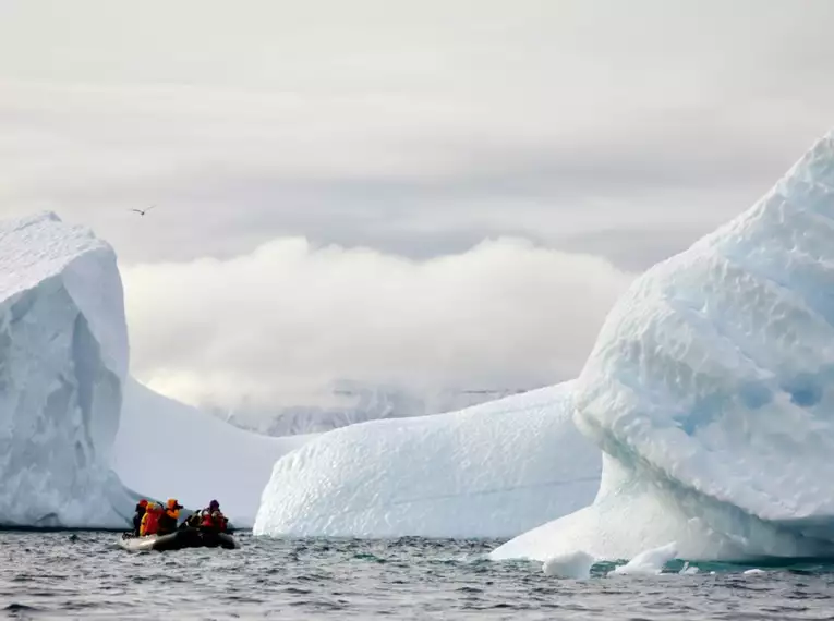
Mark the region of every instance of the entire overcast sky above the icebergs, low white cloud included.
[[0, 217], [110, 242], [133, 373], [192, 403], [551, 383], [834, 125], [832, 23], [826, 0], [0, 0]]

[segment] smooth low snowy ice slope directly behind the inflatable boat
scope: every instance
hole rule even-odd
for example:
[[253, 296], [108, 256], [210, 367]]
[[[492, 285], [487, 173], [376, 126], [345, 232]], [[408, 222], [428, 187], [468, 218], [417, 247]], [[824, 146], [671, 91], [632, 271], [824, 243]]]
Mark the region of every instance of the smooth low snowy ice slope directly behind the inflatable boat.
[[216, 498], [237, 526], [252, 526], [273, 465], [311, 437], [245, 431], [131, 378], [112, 466], [131, 489], [191, 508]]

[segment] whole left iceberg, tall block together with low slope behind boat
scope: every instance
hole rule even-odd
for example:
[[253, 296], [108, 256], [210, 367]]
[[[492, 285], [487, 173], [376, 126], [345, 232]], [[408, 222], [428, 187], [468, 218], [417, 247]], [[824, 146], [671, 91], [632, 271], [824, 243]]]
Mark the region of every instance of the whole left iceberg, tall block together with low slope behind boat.
[[110, 246], [53, 214], [0, 223], [0, 525], [124, 527], [140, 494], [254, 521], [273, 464], [309, 437], [156, 394], [128, 358]]

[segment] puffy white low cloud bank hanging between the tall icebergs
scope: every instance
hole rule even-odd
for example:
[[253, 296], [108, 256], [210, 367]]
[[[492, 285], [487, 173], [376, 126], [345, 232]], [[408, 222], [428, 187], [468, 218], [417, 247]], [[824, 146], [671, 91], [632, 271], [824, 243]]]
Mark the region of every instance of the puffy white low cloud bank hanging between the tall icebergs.
[[192, 403], [256, 407], [326, 404], [346, 379], [424, 393], [570, 378], [631, 280], [511, 239], [426, 260], [282, 239], [123, 278], [133, 373]]

